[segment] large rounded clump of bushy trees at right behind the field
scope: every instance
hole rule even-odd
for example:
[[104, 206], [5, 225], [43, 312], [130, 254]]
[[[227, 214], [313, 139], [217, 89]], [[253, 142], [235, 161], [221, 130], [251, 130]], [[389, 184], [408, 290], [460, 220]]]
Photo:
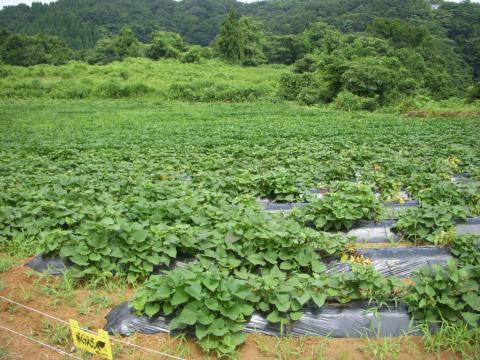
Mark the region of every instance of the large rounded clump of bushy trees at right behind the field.
[[303, 91], [308, 94], [303, 103], [335, 100], [340, 109], [374, 110], [425, 92], [448, 98], [468, 86], [468, 67], [444, 38], [394, 19], [377, 19], [370, 31], [384, 39], [313, 24], [304, 33], [312, 54], [297, 61], [294, 71], [313, 71], [308, 78], [316, 81], [302, 86], [300, 77], [291, 76], [280, 83], [280, 94], [293, 100]]

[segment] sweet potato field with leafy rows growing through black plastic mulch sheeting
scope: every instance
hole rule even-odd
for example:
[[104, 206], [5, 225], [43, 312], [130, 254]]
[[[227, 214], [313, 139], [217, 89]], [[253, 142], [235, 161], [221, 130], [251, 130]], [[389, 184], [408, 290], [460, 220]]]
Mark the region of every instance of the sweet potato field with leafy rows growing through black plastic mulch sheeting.
[[110, 333], [149, 325], [232, 357], [247, 333], [453, 326], [470, 333], [462, 356], [479, 354], [479, 118], [154, 100], [0, 106], [1, 251], [76, 286], [128, 284], [128, 302], [107, 309]]

